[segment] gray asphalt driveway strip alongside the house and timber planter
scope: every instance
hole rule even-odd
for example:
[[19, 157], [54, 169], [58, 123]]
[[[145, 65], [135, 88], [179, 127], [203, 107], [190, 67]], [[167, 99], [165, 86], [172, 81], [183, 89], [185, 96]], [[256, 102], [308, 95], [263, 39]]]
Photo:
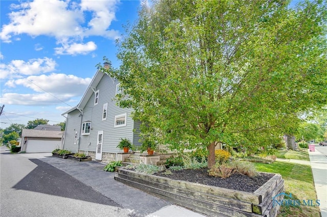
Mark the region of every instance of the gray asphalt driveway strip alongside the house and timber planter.
[[142, 190], [115, 181], [113, 178], [114, 173], [102, 170], [106, 165], [104, 163], [62, 159], [52, 157], [51, 153], [21, 154], [20, 156], [42, 160], [91, 186], [102, 195], [128, 209], [130, 215], [126, 217], [205, 217], [205, 215], [174, 205]]

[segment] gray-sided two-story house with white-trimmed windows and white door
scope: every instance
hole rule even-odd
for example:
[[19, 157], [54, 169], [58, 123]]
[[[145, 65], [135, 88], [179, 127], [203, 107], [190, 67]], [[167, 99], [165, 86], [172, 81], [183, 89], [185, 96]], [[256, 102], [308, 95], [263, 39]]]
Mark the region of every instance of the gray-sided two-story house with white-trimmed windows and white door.
[[118, 80], [97, 71], [81, 102], [62, 114], [66, 115], [63, 149], [110, 162], [122, 152], [116, 148], [120, 138], [141, 145], [137, 134], [139, 122], [130, 116], [133, 109], [116, 105], [114, 97], [119, 91]]

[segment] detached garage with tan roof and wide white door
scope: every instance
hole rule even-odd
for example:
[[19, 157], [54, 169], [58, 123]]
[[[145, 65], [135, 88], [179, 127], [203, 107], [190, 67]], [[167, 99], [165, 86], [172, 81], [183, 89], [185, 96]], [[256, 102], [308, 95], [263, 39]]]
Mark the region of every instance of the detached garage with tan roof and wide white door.
[[21, 132], [21, 152], [52, 152], [62, 147], [61, 131], [23, 129]]

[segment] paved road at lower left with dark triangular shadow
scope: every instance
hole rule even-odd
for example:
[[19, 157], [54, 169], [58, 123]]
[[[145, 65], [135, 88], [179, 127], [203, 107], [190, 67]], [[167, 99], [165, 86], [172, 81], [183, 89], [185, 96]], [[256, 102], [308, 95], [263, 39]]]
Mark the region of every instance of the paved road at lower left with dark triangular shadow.
[[129, 209], [39, 159], [0, 147], [0, 216], [133, 216]]

